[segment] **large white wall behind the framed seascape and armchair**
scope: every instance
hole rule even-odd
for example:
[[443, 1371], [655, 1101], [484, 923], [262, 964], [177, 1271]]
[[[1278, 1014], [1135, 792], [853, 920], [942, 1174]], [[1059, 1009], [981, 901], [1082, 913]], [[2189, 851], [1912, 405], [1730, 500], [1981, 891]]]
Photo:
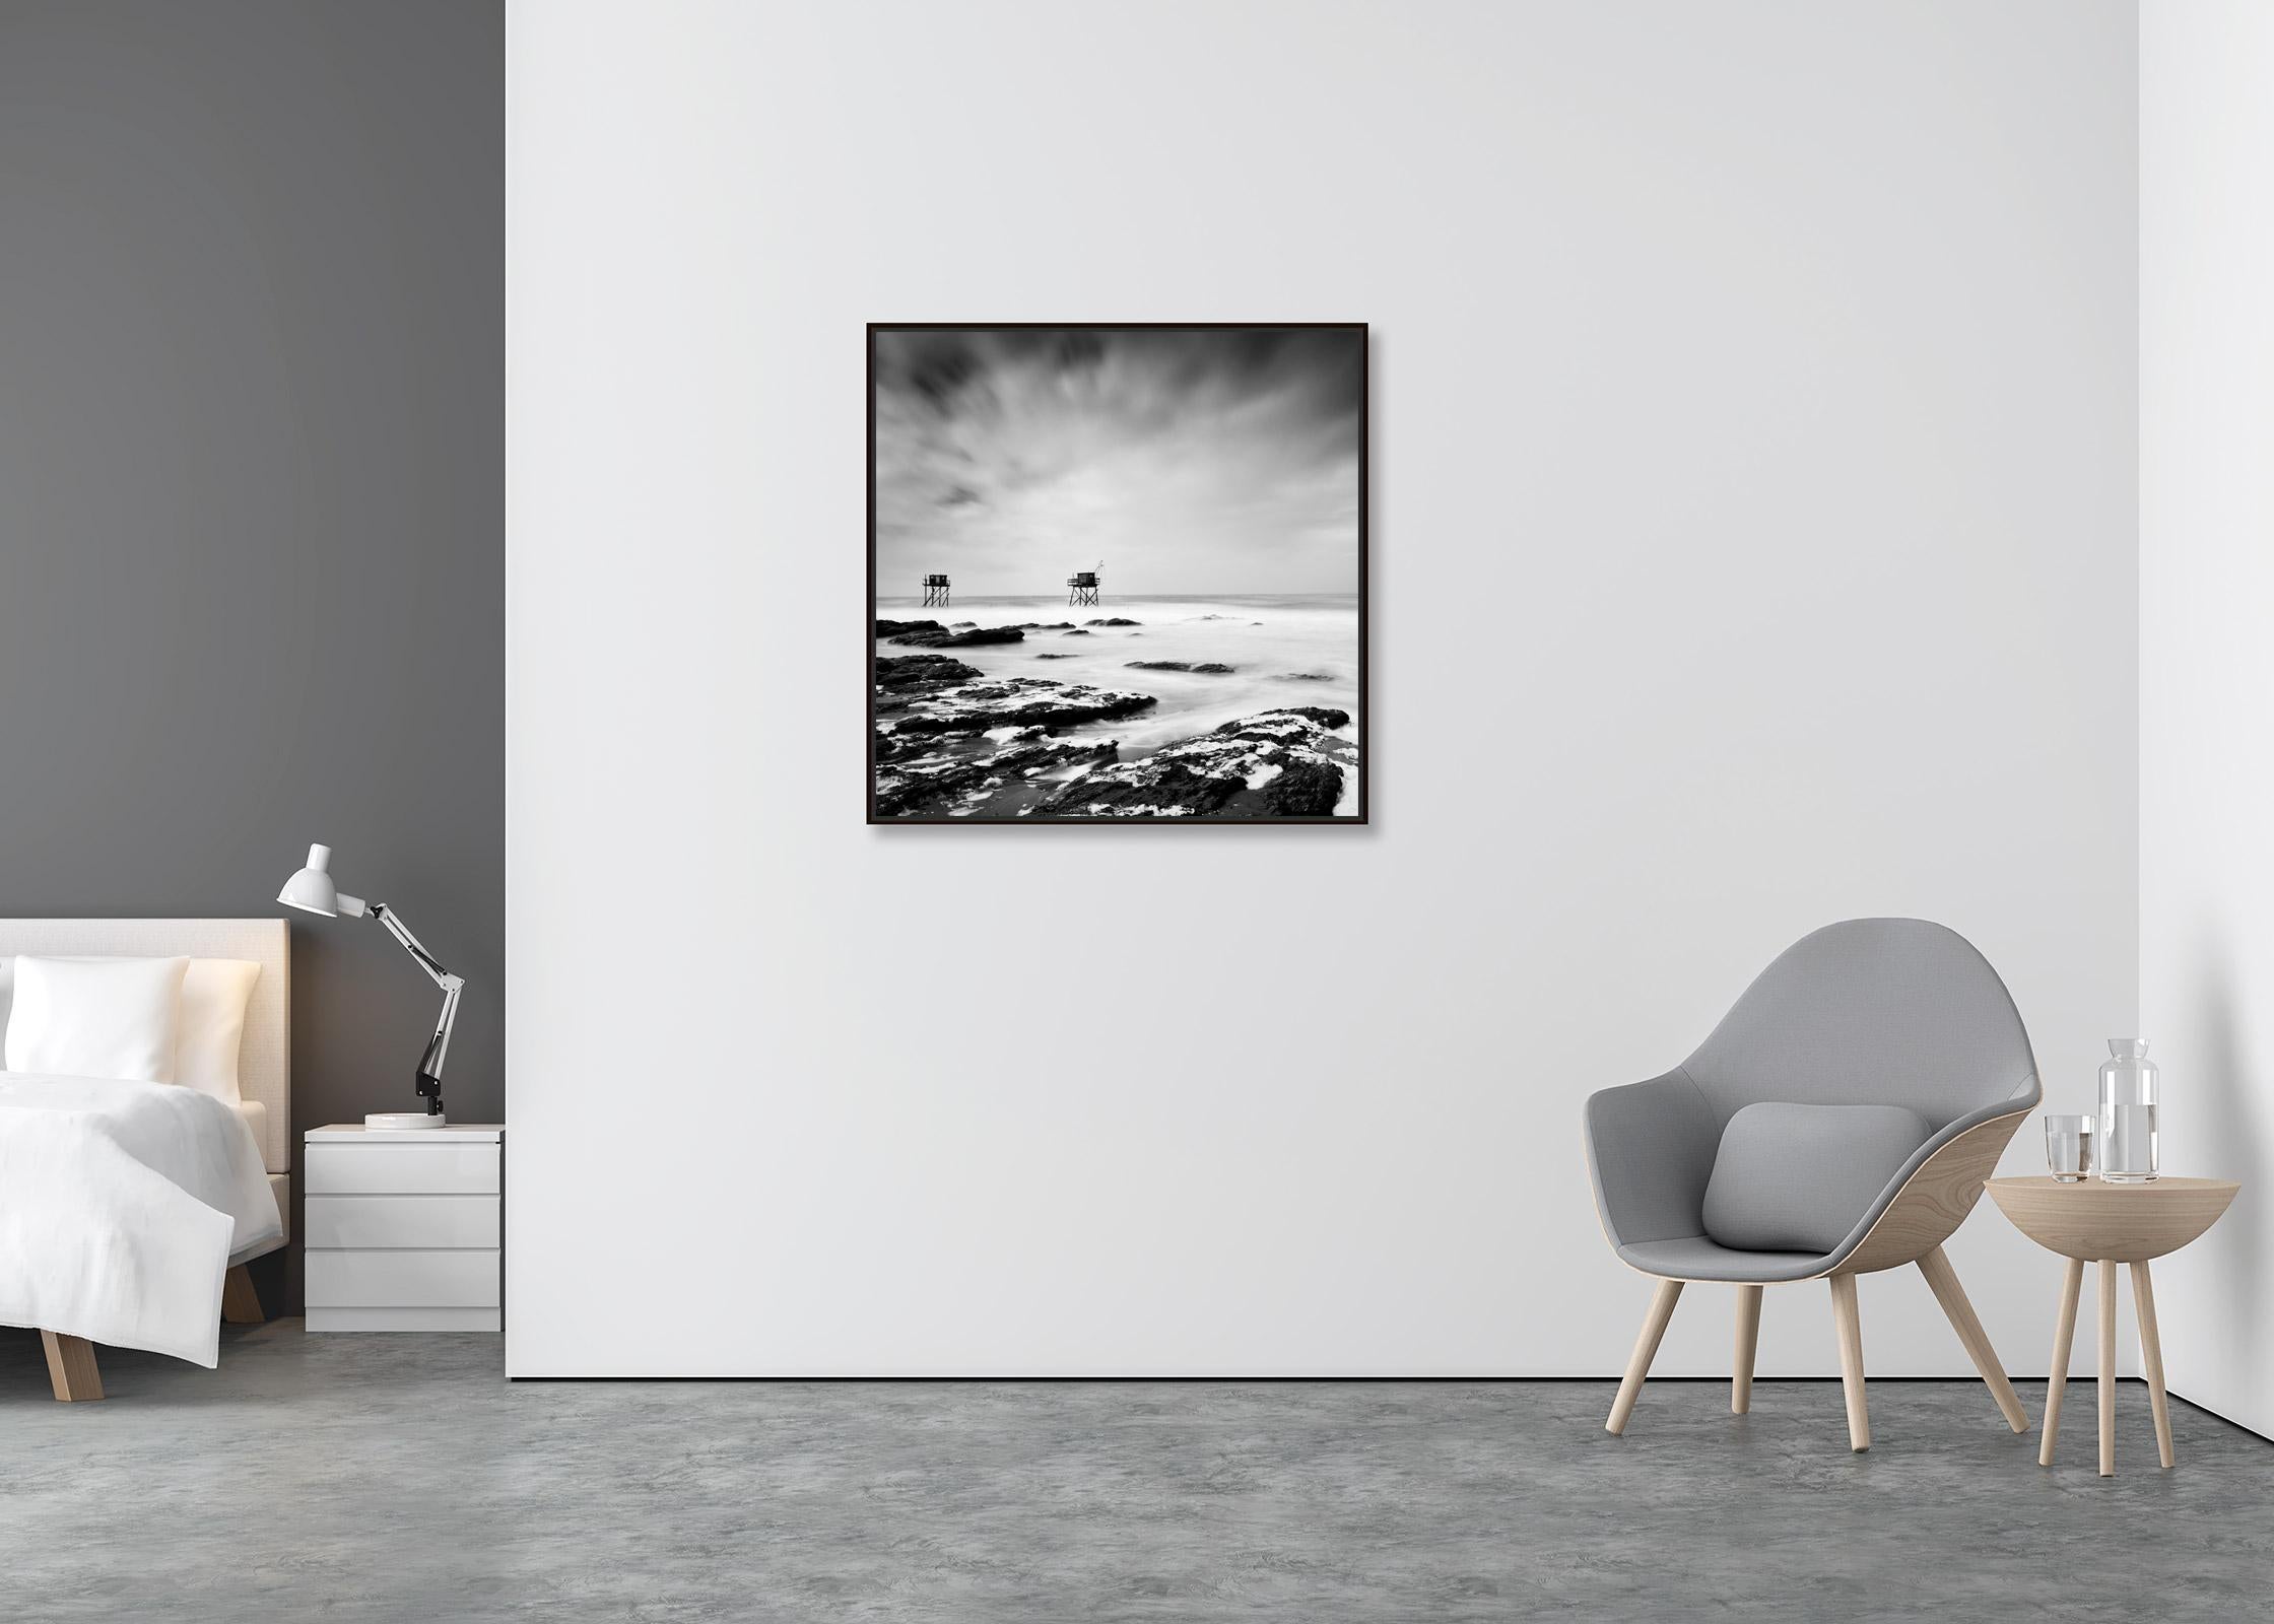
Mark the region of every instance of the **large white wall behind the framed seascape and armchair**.
[[[1617, 1372], [1580, 1099], [1851, 914], [2085, 1099], [2133, 71], [2072, 0], [516, 5], [512, 1369]], [[1373, 830], [862, 826], [869, 318], [1373, 323]], [[1951, 1256], [2042, 1367], [2051, 1260]]]

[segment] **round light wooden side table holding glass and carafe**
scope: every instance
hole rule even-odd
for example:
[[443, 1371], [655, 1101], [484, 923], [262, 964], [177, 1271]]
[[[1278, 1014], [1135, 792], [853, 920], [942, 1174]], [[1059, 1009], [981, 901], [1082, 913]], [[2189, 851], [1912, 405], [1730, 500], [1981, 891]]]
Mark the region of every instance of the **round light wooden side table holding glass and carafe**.
[[2149, 1258], [2178, 1251], [2219, 1221], [2242, 1185], [2229, 1178], [2156, 1178], [2144, 1185], [2108, 1185], [2083, 1178], [1992, 1178], [1985, 1190], [2015, 1228], [2047, 1251], [2069, 1260], [2053, 1321], [2053, 1369], [2044, 1385], [2044, 1442], [2038, 1465], [2053, 1465], [2060, 1433], [2060, 1390], [2069, 1381], [2069, 1342], [2076, 1337], [2076, 1299], [2085, 1265], [2101, 1265], [2101, 1476], [2117, 1474], [2117, 1265], [2133, 1267], [2133, 1312], [2140, 1317], [2140, 1360], [2147, 1397], [2156, 1408], [2156, 1453], [2172, 1465], [2172, 1403], [2163, 1392], [2163, 1342], [2156, 1335], [2156, 1287], [2147, 1278]]

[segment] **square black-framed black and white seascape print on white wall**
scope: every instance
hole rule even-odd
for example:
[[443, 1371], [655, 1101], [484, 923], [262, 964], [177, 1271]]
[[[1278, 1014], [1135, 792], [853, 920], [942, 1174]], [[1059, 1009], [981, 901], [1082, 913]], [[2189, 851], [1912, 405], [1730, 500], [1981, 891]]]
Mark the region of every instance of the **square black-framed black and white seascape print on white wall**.
[[871, 823], [1364, 823], [1364, 325], [871, 325], [869, 619]]

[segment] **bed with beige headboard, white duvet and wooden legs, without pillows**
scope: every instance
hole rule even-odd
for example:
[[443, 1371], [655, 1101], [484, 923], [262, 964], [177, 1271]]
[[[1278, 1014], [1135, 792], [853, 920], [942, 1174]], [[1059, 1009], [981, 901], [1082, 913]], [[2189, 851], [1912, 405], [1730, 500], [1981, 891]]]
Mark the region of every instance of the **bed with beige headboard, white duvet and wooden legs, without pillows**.
[[[0, 919], [0, 964], [250, 960], [241, 1101], [171, 1083], [0, 1071], [0, 1324], [34, 1326], [57, 1399], [100, 1399], [96, 1347], [218, 1362], [257, 1324], [246, 1265], [291, 1237], [291, 944], [282, 919]], [[0, 1030], [9, 989], [0, 976]], [[264, 1199], [266, 1196], [266, 1199]], [[273, 1212], [271, 1212], [273, 1208]]]

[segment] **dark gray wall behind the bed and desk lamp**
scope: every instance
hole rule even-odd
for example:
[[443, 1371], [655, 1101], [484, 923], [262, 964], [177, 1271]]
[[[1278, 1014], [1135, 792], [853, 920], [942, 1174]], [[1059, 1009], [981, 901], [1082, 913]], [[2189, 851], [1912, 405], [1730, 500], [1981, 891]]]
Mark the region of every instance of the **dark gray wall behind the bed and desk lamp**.
[[[498, 2], [0, 0], [0, 914], [273, 914], [332, 842], [468, 978], [468, 1121], [505, 1078], [503, 96]], [[296, 917], [296, 1130], [414, 1105], [434, 1008], [375, 923]]]

